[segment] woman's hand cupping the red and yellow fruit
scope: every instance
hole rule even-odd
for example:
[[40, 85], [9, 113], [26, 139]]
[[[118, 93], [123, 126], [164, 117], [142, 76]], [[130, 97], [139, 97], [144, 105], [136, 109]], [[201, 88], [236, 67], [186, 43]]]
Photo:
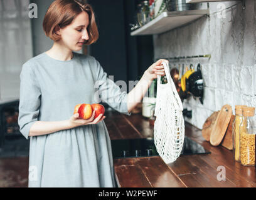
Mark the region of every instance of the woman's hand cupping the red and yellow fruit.
[[103, 114], [100, 114], [97, 118], [93, 119], [94, 116], [95, 116], [95, 111], [93, 111], [90, 119], [81, 119], [81, 118], [79, 118], [79, 114], [75, 113], [69, 119], [69, 121], [70, 121], [71, 126], [77, 127], [77, 126], [88, 125], [88, 124], [97, 124], [106, 118], [105, 116], [103, 116]]

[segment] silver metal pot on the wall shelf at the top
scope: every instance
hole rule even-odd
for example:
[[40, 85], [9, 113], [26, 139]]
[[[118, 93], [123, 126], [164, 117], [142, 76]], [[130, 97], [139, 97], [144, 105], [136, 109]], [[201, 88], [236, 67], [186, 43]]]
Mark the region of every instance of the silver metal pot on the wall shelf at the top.
[[188, 11], [196, 9], [196, 4], [186, 4], [186, 0], [164, 0], [168, 11]]

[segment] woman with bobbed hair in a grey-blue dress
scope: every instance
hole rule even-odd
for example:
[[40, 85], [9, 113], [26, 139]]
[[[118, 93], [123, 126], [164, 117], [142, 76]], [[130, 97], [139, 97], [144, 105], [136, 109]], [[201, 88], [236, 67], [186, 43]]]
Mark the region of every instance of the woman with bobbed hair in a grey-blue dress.
[[[112, 108], [131, 114], [152, 80], [164, 76], [163, 60], [152, 64], [127, 94], [107, 78], [95, 58], [73, 52], [98, 39], [89, 4], [54, 1], [43, 29], [53, 46], [24, 63], [20, 74], [18, 123], [30, 139], [29, 187], [115, 187], [105, 116], [93, 119], [93, 112], [83, 120], [73, 109], [80, 103], [99, 103], [99, 93]], [[95, 88], [96, 83], [100, 85]]]

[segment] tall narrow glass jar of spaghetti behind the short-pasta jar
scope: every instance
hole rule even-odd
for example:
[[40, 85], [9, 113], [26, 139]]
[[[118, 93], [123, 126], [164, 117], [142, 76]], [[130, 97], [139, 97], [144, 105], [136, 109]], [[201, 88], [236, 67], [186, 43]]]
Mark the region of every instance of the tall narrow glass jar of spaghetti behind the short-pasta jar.
[[232, 124], [232, 142], [233, 142], [233, 156], [235, 161], [240, 162], [240, 141], [239, 141], [239, 127], [243, 119], [242, 108], [247, 106], [235, 106], [235, 120]]

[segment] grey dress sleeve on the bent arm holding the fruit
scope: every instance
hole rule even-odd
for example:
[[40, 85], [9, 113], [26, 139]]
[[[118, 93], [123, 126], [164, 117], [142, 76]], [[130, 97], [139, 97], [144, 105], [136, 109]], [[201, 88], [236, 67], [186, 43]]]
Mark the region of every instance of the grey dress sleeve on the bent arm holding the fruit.
[[35, 73], [28, 64], [23, 64], [20, 74], [19, 90], [19, 131], [29, 139], [31, 126], [38, 121], [41, 105], [41, 89]]

